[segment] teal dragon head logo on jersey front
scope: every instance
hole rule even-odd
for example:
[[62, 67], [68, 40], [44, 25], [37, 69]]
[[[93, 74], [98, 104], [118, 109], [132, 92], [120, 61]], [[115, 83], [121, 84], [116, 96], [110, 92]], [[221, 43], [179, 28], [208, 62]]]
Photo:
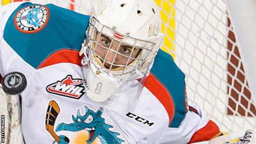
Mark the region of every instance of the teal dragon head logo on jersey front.
[[[124, 141], [117, 137], [120, 134], [109, 130], [113, 126], [105, 123], [105, 119], [101, 117], [102, 112], [102, 107], [97, 112], [94, 112], [85, 106], [85, 115], [81, 115], [78, 109], [77, 116], [72, 115], [73, 123], [60, 123], [56, 128], [56, 132], [61, 130], [71, 132], [87, 130], [89, 133], [89, 138], [86, 141], [87, 144], [94, 142], [96, 137], [100, 139], [101, 144], [121, 144]], [[69, 141], [66, 140], [66, 136], [60, 135], [59, 138], [58, 144], [68, 144]]]

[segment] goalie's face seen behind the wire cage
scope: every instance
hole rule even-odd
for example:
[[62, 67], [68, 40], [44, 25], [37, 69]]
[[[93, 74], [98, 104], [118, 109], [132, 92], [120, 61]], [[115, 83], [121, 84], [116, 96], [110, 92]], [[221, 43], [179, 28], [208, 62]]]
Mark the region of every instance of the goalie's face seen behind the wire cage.
[[98, 63], [105, 69], [121, 70], [131, 65], [141, 52], [140, 48], [124, 44], [99, 32], [96, 33], [95, 40], [98, 41], [95, 44], [96, 57], [100, 59]]

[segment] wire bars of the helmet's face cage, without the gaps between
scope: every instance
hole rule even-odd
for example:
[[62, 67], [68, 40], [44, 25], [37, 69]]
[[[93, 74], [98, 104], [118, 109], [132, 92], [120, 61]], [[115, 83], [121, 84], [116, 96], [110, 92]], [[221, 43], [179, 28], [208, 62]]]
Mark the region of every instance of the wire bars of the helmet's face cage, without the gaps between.
[[[98, 36], [96, 37], [97, 34]], [[101, 36], [107, 36], [111, 39], [110, 46], [107, 47], [99, 43]], [[113, 41], [119, 42], [116, 50], [111, 48]], [[129, 32], [121, 34], [116, 31], [115, 27], [110, 28], [103, 25], [94, 16], [91, 17], [89, 22], [85, 44], [87, 47], [86, 55], [90, 63], [94, 64], [98, 71], [104, 71], [116, 77], [134, 73], [136, 70], [139, 70], [142, 74], [146, 73], [149, 70], [149, 62], [155, 57], [160, 47], [160, 43], [130, 37]], [[121, 45], [127, 45], [132, 48], [129, 55], [124, 55], [120, 52]], [[96, 53], [98, 46], [107, 50], [104, 57]], [[132, 56], [135, 49], [140, 50], [136, 57]], [[107, 55], [110, 52], [114, 53], [114, 58], [111, 62], [107, 61]], [[117, 56], [127, 59], [127, 62], [125, 64], [114, 63]], [[109, 66], [105, 67], [105, 64]]]

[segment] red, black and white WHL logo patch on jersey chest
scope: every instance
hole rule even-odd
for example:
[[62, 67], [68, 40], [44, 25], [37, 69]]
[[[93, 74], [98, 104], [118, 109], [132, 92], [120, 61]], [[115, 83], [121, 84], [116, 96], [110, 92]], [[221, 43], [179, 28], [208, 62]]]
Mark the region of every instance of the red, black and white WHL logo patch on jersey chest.
[[63, 80], [58, 80], [46, 87], [46, 91], [51, 94], [76, 99], [79, 99], [83, 94], [85, 94], [84, 90], [85, 88], [83, 87], [82, 79], [73, 79], [72, 75], [67, 75]]

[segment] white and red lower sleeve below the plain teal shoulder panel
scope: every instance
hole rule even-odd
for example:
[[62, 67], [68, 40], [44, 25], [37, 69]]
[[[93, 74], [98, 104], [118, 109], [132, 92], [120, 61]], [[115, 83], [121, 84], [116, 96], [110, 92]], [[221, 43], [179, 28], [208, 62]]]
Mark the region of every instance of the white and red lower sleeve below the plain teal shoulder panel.
[[218, 126], [197, 105], [189, 111], [178, 128], [167, 128], [159, 144], [190, 144], [222, 135]]

